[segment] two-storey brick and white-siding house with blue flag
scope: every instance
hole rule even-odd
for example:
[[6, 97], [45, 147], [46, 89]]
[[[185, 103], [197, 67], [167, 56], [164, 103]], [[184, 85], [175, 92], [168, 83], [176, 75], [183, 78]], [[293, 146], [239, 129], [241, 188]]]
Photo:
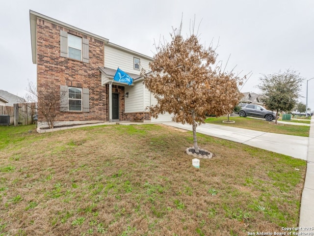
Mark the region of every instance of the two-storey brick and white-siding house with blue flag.
[[[156, 99], [140, 72], [149, 71], [153, 58], [40, 13], [29, 15], [37, 88], [65, 94], [55, 121], [171, 120], [169, 115], [152, 119], [147, 111]], [[118, 67], [132, 77], [131, 86], [113, 81]]]

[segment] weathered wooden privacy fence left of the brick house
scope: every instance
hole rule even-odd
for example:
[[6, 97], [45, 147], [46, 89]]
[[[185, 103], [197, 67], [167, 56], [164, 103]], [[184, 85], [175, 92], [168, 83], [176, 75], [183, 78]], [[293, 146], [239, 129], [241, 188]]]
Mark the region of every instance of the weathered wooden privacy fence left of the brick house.
[[36, 114], [36, 102], [16, 103], [13, 106], [0, 106], [0, 115], [9, 115], [10, 124], [33, 124]]

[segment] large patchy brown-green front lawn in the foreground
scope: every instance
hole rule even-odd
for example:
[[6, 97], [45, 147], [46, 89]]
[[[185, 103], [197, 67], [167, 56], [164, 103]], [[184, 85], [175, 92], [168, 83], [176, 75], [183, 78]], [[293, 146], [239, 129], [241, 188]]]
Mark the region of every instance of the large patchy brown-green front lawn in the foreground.
[[244, 236], [297, 227], [306, 162], [198, 134], [0, 126], [0, 236]]

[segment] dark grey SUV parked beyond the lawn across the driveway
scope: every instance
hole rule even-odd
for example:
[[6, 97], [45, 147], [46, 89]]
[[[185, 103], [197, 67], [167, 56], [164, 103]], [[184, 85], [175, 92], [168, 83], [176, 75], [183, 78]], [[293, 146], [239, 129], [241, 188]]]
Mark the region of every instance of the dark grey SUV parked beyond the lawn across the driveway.
[[272, 111], [266, 110], [261, 105], [243, 103], [240, 106], [241, 110], [238, 113], [240, 117], [259, 117], [265, 118], [267, 121], [271, 121], [276, 117], [276, 114]]

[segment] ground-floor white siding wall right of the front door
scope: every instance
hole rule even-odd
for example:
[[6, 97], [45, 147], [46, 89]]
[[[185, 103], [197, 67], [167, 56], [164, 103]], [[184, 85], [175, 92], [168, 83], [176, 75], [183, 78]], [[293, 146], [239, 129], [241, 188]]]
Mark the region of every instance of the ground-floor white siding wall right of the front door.
[[129, 97], [125, 98], [125, 112], [143, 112], [143, 87], [142, 83], [136, 83], [134, 86], [125, 86], [125, 92], [129, 92]]

